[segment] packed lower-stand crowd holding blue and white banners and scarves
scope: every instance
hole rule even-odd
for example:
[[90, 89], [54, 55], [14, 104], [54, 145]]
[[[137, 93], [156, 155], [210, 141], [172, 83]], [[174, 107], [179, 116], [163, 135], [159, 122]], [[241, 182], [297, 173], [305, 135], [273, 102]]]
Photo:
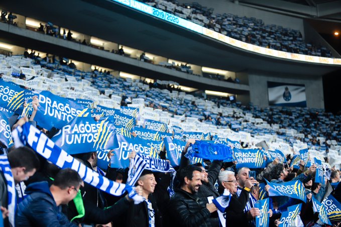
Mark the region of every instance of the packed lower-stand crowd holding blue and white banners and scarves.
[[340, 115], [29, 57], [0, 56], [5, 226], [339, 225]]

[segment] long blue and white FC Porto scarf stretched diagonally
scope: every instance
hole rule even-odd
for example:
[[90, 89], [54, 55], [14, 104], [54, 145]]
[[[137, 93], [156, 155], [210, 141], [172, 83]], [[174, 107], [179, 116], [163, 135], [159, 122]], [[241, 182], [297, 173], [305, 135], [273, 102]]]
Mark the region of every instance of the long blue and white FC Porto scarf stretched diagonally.
[[129, 196], [135, 201], [143, 201], [143, 197], [135, 192], [134, 187], [109, 180], [86, 167], [66, 151], [58, 147], [44, 133], [30, 123], [27, 122], [23, 126], [17, 127], [12, 134], [16, 147], [25, 145], [30, 146], [33, 150], [58, 167], [76, 170], [84, 182], [115, 196], [120, 196], [125, 191], [128, 191]]

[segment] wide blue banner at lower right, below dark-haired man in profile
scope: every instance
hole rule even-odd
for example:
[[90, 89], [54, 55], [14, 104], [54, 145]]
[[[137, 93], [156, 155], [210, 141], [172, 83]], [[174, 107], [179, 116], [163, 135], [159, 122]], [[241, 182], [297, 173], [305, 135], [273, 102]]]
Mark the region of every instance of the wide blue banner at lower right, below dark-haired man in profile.
[[270, 186], [268, 191], [269, 196], [288, 196], [306, 202], [307, 198], [304, 193], [304, 185], [300, 180], [283, 183], [270, 183], [267, 180], [266, 182]]

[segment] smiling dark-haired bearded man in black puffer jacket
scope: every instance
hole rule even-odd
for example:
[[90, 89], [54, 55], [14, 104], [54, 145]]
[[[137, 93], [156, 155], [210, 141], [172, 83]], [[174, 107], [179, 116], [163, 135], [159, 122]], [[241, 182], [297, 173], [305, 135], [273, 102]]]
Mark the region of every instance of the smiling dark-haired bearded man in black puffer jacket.
[[212, 226], [210, 215], [217, 208], [206, 203], [195, 194], [201, 186], [201, 168], [188, 165], [181, 169], [180, 188], [169, 202], [169, 215], [172, 226]]

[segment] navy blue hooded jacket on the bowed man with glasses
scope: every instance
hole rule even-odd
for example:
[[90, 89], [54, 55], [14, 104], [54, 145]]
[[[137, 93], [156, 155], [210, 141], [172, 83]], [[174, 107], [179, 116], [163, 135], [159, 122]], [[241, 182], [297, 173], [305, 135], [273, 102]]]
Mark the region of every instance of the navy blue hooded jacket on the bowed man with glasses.
[[47, 181], [30, 184], [25, 193], [27, 197], [18, 205], [16, 226], [72, 226], [57, 206]]

